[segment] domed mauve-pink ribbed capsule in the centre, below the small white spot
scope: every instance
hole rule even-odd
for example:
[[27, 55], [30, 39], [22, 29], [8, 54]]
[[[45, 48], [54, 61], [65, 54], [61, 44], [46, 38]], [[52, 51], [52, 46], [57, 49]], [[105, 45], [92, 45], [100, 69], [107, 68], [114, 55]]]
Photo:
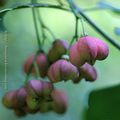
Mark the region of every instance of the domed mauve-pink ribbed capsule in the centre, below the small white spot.
[[48, 78], [53, 82], [72, 80], [79, 76], [77, 68], [66, 60], [58, 60], [48, 70]]

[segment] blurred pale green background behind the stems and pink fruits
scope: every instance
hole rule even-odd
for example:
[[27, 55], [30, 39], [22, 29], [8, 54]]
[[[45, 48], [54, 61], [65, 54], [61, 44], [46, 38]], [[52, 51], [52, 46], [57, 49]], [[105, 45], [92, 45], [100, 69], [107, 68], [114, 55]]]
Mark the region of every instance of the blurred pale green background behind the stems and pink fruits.
[[[39, 2], [45, 0], [39, 0]], [[49, 3], [54, 3], [54, 0], [46, 0]], [[9, 0], [5, 6], [10, 7], [15, 4], [29, 3], [29, 0]], [[96, 6], [97, 0], [75, 0], [81, 8], [92, 8]], [[110, 4], [120, 8], [119, 0], [107, 0]], [[3, 9], [3, 8], [1, 8]], [[67, 41], [72, 39], [74, 35], [75, 19], [71, 13], [55, 10], [55, 9], [40, 9], [42, 18], [47, 26], [51, 28], [57, 38], [63, 38]], [[115, 27], [120, 27], [120, 13], [114, 13], [111, 10], [95, 10], [86, 12], [86, 14], [110, 37], [114, 38], [120, 44], [120, 36], [114, 33]], [[8, 31], [8, 90], [17, 89], [24, 84], [25, 74], [22, 71], [24, 60], [27, 56], [35, 53], [37, 50], [36, 34], [31, 14], [31, 9], [20, 9], [8, 12], [4, 16], [4, 25]], [[103, 39], [96, 31], [94, 31], [86, 22], [84, 22], [85, 31], [91, 35]], [[39, 31], [40, 33], [41, 31]], [[79, 33], [82, 33], [82, 26], [79, 24]], [[53, 39], [48, 34], [49, 39], [45, 41], [44, 49], [48, 50]], [[4, 81], [4, 46], [5, 33], [0, 33], [0, 81]], [[103, 39], [105, 41], [105, 39]], [[61, 82], [55, 86], [64, 90], [68, 95], [69, 106], [65, 115], [57, 115], [53, 112], [47, 114], [28, 115], [24, 118], [18, 118], [13, 111], [7, 110], [1, 103], [1, 98], [8, 90], [4, 89], [4, 84], [0, 83], [0, 120], [85, 120], [86, 111], [89, 108], [89, 94], [93, 90], [99, 90], [120, 83], [120, 53], [115, 47], [107, 43], [110, 48], [109, 57], [102, 61], [96, 62], [95, 66], [98, 71], [98, 79], [94, 83], [85, 82], [82, 80], [75, 85], [71, 81], [66, 83]], [[120, 90], [120, 89], [118, 89]], [[114, 92], [113, 92], [114, 94]], [[110, 94], [113, 95], [113, 94]], [[118, 92], [119, 94], [119, 92]], [[103, 96], [101, 96], [103, 97]], [[94, 98], [94, 97], [93, 97]], [[104, 97], [103, 97], [104, 98]], [[111, 97], [112, 98], [112, 97]], [[113, 97], [114, 98], [114, 97]], [[93, 99], [93, 103], [94, 103]], [[104, 102], [104, 101], [103, 101]], [[114, 104], [114, 100], [113, 100]], [[113, 105], [114, 106], [114, 105]], [[97, 108], [95, 108], [97, 109]], [[99, 109], [99, 108], [98, 108]], [[103, 108], [104, 109], [104, 108]], [[109, 108], [112, 109], [112, 108]], [[88, 111], [89, 112], [89, 111]], [[91, 113], [92, 114], [92, 113]], [[96, 113], [95, 113], [96, 114]], [[90, 119], [90, 115], [87, 118]], [[114, 120], [119, 120], [114, 119]], [[98, 120], [96, 117], [95, 119]], [[100, 120], [113, 120], [100, 119]]]

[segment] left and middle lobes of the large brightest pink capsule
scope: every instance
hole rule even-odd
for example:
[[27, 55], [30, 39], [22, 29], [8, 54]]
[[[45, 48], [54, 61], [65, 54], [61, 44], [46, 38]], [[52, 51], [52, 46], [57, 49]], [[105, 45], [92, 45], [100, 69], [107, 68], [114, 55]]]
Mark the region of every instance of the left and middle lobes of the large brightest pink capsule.
[[96, 56], [97, 45], [89, 36], [80, 38], [70, 48], [70, 62], [77, 67], [82, 66], [85, 62], [94, 64]]

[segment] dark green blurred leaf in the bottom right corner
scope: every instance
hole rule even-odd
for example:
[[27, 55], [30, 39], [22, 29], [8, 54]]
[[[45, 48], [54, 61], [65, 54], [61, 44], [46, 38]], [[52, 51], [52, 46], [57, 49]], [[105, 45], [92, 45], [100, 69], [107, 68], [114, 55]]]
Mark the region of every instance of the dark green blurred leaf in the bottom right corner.
[[86, 120], [120, 120], [120, 85], [90, 94]]

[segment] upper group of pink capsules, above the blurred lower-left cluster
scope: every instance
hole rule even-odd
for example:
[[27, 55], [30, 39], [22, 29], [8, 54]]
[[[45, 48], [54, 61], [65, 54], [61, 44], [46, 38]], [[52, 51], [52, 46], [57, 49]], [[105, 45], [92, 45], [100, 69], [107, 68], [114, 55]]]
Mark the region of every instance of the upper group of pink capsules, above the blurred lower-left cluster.
[[[63, 56], [69, 53], [69, 59]], [[75, 42], [70, 48], [64, 40], [53, 42], [47, 55], [40, 53], [36, 63], [41, 77], [48, 77], [52, 83], [62, 80], [79, 82], [82, 78], [94, 81], [97, 78], [96, 69], [93, 67], [96, 60], [104, 60], [109, 53], [108, 46], [100, 39], [85, 36]], [[24, 71], [29, 72], [35, 55], [30, 56], [24, 64]], [[33, 67], [32, 74], [36, 74]]]

